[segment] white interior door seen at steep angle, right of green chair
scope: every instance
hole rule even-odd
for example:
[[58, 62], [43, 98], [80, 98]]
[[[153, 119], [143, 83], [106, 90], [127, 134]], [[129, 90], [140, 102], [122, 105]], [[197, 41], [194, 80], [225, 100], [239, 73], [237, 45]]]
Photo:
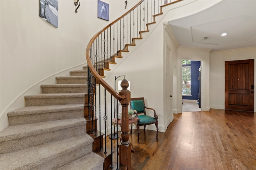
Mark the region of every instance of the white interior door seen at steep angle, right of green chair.
[[166, 127], [172, 121], [172, 114], [171, 49], [166, 45]]

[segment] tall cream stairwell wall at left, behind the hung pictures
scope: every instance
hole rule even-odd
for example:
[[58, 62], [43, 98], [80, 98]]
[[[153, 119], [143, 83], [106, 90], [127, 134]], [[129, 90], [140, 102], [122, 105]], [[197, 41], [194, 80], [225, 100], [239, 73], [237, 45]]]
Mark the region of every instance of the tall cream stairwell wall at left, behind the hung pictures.
[[[0, 130], [8, 126], [8, 111], [24, 106], [26, 94], [40, 93], [40, 83], [57, 73], [86, 63], [92, 36], [139, 0], [104, 0], [109, 20], [97, 17], [97, 0], [59, 0], [58, 28], [38, 16], [39, 0], [0, 1]], [[68, 71], [65, 74], [69, 75]]]

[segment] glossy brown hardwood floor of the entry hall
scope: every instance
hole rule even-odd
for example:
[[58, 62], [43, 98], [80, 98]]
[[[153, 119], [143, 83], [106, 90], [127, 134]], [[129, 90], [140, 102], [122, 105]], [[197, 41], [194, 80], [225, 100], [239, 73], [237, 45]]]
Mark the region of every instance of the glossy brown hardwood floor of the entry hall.
[[156, 131], [140, 129], [140, 143], [132, 132], [133, 170], [256, 170], [256, 112], [174, 114], [158, 140]]

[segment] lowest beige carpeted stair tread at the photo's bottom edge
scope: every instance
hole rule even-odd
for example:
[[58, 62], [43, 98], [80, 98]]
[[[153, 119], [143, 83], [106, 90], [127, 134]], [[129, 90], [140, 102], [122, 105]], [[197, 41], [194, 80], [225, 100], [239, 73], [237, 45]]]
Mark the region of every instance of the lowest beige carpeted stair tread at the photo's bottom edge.
[[102, 170], [104, 158], [94, 152], [90, 152], [81, 158], [78, 158], [57, 170]]

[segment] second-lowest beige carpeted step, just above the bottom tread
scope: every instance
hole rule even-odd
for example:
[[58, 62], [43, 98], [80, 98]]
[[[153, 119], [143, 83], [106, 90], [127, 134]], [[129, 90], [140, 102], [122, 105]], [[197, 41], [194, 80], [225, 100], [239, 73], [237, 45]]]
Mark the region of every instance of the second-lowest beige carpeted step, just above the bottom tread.
[[[93, 139], [89, 135], [82, 135], [77, 137], [69, 137], [59, 141], [44, 143], [42, 145], [30, 147], [27, 149], [21, 149], [21, 150], [16, 150], [13, 152], [1, 154], [0, 169], [2, 170], [31, 169], [31, 168], [42, 169], [42, 167], [40, 167], [40, 165], [42, 164], [43, 164], [43, 167], [51, 166], [51, 164], [53, 164], [54, 167], [44, 167], [44, 168], [56, 169], [69, 162], [69, 160], [66, 160], [68, 157], [67, 154], [70, 155], [70, 153], [72, 153], [74, 150], [79, 150], [82, 147], [84, 148], [85, 145], [88, 145], [86, 149], [83, 149], [83, 150], [81, 149], [81, 152], [83, 152], [82, 153], [83, 155], [90, 153], [92, 149], [89, 149], [89, 148], [92, 148], [92, 142], [93, 142]], [[76, 158], [73, 158], [73, 156], [69, 156], [69, 159], [75, 160]], [[58, 161], [56, 163], [57, 165], [54, 164], [54, 160]], [[64, 162], [64, 160], [66, 160], [66, 162]]]

